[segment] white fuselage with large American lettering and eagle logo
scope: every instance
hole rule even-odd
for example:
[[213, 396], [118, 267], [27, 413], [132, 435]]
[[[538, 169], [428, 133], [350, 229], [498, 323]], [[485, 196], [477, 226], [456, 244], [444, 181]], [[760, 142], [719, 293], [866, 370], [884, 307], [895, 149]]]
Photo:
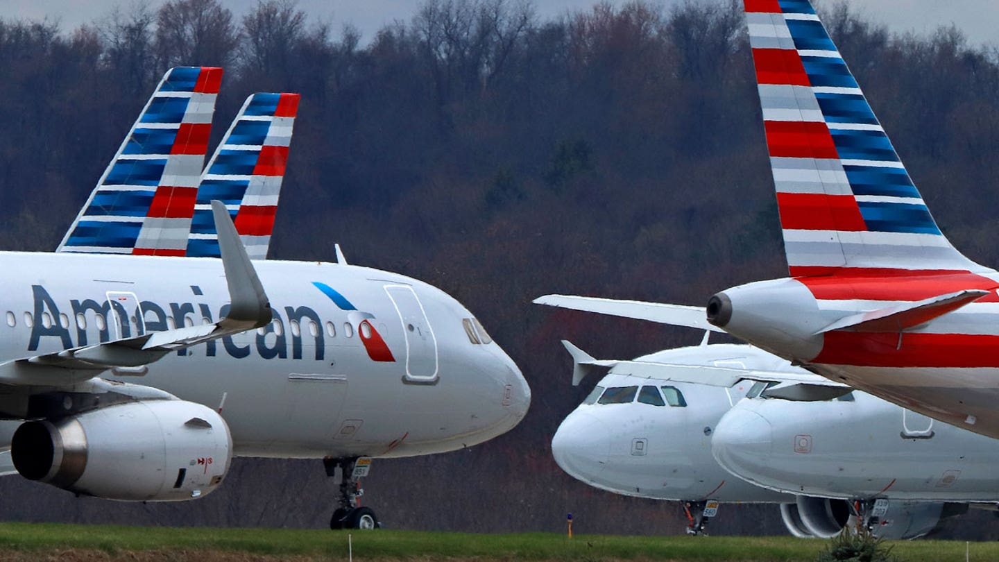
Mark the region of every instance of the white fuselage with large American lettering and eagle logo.
[[[525, 414], [519, 370], [496, 343], [473, 343], [463, 323], [473, 315], [441, 290], [364, 267], [254, 266], [273, 324], [172, 352], [127, 379], [221, 409], [235, 454], [437, 453], [500, 435]], [[4, 361], [136, 335], [136, 302], [147, 331], [218, 320], [229, 302], [211, 258], [2, 252], [0, 271]], [[107, 305], [115, 300], [122, 307]], [[19, 396], [0, 396], [6, 417], [23, 415]]]

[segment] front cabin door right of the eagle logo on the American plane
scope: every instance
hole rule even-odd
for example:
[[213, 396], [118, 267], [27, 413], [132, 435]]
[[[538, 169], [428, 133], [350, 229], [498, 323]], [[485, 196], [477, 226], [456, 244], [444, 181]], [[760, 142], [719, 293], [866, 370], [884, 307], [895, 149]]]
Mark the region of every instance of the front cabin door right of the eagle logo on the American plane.
[[406, 380], [432, 383], [438, 378], [438, 348], [424, 305], [409, 285], [386, 285], [406, 334]]

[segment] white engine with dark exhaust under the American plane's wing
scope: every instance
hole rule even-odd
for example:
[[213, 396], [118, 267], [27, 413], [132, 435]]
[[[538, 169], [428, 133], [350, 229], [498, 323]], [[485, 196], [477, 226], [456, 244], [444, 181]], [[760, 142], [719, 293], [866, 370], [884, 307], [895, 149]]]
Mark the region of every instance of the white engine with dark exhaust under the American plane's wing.
[[222, 483], [232, 459], [218, 412], [183, 400], [148, 400], [26, 422], [14, 433], [14, 468], [29, 480], [106, 499], [182, 501]]

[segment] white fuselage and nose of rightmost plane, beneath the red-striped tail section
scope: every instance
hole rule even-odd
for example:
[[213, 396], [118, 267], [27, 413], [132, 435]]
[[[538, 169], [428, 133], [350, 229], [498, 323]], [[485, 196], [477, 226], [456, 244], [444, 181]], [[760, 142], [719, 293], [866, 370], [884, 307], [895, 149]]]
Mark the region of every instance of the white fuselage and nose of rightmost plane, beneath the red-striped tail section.
[[740, 478], [795, 494], [999, 501], [999, 441], [863, 392], [851, 395], [744, 399], [718, 423], [715, 458]]

